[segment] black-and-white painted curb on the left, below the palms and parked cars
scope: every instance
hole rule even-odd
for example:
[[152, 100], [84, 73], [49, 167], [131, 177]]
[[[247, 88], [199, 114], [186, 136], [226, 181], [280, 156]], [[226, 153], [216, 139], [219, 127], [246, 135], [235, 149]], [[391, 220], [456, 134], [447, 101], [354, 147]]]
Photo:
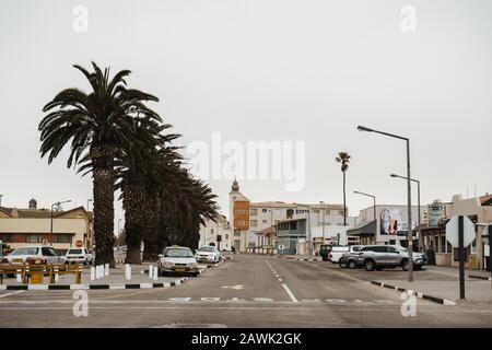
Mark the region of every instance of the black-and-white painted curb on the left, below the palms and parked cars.
[[165, 283], [129, 283], [129, 284], [0, 284], [0, 291], [54, 291], [54, 290], [114, 290], [114, 289], [151, 289], [171, 288], [183, 284], [187, 277]]

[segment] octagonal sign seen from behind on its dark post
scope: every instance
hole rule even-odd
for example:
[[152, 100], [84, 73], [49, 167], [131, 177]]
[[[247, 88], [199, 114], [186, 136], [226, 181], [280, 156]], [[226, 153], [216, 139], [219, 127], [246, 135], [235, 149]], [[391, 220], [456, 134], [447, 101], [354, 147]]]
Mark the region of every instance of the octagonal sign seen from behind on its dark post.
[[446, 224], [446, 240], [458, 247], [459, 257], [459, 299], [465, 299], [465, 247], [475, 240], [475, 224], [468, 217], [453, 217]]

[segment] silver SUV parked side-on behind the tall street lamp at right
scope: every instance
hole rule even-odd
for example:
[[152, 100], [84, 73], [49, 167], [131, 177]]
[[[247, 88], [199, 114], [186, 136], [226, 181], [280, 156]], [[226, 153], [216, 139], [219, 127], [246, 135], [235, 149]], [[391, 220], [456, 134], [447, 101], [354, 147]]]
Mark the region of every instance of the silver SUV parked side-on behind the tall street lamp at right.
[[[420, 270], [427, 262], [427, 257], [422, 253], [413, 253], [413, 267]], [[356, 256], [356, 264], [367, 271], [382, 270], [385, 267], [401, 267], [408, 270], [408, 252], [399, 245], [367, 245]]]

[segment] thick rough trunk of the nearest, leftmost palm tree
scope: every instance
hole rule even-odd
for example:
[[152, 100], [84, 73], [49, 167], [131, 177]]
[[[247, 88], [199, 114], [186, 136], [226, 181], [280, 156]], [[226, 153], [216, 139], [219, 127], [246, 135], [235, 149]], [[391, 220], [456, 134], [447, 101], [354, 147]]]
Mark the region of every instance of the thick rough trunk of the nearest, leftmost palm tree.
[[104, 151], [101, 148], [97, 152], [98, 156], [93, 158], [95, 264], [109, 264], [110, 267], [115, 267], [113, 256], [115, 244], [115, 172], [110, 156], [103, 154]]

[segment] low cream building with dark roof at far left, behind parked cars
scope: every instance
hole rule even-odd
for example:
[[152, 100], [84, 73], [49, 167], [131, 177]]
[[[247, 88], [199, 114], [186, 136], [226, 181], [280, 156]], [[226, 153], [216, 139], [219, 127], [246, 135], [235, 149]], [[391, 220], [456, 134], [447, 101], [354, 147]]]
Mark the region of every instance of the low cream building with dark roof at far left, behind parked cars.
[[11, 248], [33, 244], [49, 244], [60, 253], [75, 246], [78, 241], [92, 250], [92, 213], [83, 207], [52, 212], [37, 209], [31, 199], [28, 209], [0, 207], [0, 241]]

